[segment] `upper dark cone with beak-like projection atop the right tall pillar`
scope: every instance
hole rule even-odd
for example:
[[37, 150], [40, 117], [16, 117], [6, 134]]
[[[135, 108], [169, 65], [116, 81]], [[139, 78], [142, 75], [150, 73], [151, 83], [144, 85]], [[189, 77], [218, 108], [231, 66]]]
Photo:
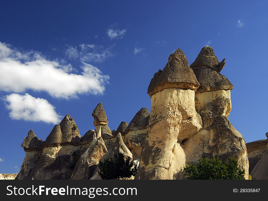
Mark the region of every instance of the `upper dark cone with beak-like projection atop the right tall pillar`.
[[221, 62], [219, 62], [218, 58], [214, 54], [212, 47], [205, 46], [201, 49], [199, 55], [196, 57], [196, 60], [191, 64], [190, 67], [193, 68], [199, 66], [206, 66], [220, 73], [224, 65], [225, 58]]

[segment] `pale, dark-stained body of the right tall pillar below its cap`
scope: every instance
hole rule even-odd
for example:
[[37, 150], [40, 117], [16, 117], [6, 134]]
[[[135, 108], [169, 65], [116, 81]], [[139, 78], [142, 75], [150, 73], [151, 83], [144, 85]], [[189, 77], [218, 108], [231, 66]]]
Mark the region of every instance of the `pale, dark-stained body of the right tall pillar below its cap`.
[[221, 160], [235, 155], [239, 167], [248, 178], [249, 160], [245, 140], [229, 122], [231, 111], [230, 90], [196, 94], [196, 111], [203, 121], [203, 128], [182, 143], [186, 162], [198, 161], [200, 157], [218, 155]]

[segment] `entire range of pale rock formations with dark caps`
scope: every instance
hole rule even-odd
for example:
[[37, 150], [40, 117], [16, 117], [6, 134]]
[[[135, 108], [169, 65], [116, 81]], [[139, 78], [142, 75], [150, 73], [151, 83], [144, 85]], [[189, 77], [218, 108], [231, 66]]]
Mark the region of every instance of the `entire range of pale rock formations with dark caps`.
[[151, 113], [141, 108], [129, 124], [122, 121], [111, 131], [99, 103], [92, 113], [95, 129], [83, 137], [69, 114], [45, 141], [30, 130], [16, 179], [101, 179], [99, 162], [115, 153], [139, 161], [135, 179], [183, 179], [187, 163], [215, 155], [222, 160], [235, 155], [245, 178], [250, 171], [268, 179], [267, 140], [246, 146], [228, 120], [233, 85], [220, 74], [224, 65], [211, 47], [202, 48], [190, 66], [177, 49], [149, 84]]

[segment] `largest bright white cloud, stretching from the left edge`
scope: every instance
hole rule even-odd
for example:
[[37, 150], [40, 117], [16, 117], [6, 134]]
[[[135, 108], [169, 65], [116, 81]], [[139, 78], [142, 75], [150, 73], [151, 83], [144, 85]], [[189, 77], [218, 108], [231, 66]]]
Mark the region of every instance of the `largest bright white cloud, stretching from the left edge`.
[[[99, 57], [95, 59], [103, 59]], [[102, 94], [109, 76], [87, 63], [81, 68], [81, 74], [74, 74], [70, 64], [47, 60], [37, 52], [21, 53], [0, 42], [0, 90], [5, 92], [31, 89], [65, 99], [78, 94]]]

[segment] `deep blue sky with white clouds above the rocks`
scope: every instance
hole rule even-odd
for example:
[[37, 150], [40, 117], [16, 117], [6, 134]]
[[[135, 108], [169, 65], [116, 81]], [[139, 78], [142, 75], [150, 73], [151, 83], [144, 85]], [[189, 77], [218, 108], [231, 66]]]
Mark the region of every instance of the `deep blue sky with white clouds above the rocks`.
[[[109, 127], [150, 111], [147, 87], [177, 48], [210, 45], [234, 85], [229, 120], [246, 142], [267, 128], [267, 1], [0, 1], [0, 173], [16, 173], [33, 129], [66, 114], [81, 136], [102, 102]], [[1, 63], [2, 61], [2, 63]], [[2, 75], [1, 75], [2, 74]]]

